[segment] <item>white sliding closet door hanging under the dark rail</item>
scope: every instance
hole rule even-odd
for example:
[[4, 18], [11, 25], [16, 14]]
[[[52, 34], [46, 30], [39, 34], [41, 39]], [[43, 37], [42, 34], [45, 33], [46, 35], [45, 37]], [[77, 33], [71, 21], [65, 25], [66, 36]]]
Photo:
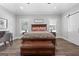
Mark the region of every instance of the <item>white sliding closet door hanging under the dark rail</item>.
[[68, 39], [79, 45], [79, 13], [71, 15], [68, 20]]

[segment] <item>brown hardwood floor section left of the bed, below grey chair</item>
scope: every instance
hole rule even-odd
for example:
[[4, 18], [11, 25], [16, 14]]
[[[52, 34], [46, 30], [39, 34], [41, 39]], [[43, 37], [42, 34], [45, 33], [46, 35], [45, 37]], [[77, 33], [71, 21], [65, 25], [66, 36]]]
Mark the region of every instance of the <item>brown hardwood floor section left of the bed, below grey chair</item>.
[[20, 55], [21, 40], [14, 40], [13, 45], [7, 47], [1, 46], [0, 55], [1, 56], [19, 56]]

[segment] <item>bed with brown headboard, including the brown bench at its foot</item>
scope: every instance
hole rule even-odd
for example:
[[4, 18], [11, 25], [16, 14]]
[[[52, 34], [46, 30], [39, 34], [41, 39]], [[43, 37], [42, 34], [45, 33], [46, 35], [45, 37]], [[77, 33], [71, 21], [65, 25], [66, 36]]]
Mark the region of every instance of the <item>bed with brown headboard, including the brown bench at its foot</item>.
[[22, 56], [54, 56], [55, 37], [47, 32], [46, 24], [32, 24], [32, 32], [25, 33], [22, 39]]

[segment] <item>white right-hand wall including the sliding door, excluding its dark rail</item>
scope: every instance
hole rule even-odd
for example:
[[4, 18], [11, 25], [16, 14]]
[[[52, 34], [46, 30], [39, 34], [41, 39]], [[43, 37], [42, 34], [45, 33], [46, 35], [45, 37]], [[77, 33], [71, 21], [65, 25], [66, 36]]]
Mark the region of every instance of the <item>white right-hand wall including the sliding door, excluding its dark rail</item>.
[[64, 13], [62, 18], [62, 36], [66, 40], [79, 45], [79, 13], [67, 17], [68, 14], [76, 11], [79, 11], [79, 4]]

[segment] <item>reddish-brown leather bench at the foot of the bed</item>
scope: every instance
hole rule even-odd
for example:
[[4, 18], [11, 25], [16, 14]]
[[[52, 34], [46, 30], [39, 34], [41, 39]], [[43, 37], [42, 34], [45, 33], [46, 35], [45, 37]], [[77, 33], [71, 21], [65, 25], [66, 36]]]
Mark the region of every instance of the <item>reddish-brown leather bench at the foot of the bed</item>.
[[55, 46], [51, 41], [26, 41], [21, 46], [22, 56], [52, 56], [55, 55]]

